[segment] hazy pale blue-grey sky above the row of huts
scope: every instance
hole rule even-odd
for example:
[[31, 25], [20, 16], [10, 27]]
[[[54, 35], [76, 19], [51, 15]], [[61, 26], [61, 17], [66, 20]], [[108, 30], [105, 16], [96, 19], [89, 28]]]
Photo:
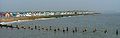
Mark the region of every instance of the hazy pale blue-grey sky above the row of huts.
[[29, 10], [120, 11], [120, 0], [0, 0], [0, 11]]

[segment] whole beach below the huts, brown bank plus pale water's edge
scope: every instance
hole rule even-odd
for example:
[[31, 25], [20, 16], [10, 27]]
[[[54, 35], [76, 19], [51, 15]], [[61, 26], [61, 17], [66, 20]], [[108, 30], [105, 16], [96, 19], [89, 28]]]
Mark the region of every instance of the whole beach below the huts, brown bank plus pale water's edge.
[[[33, 21], [33, 20], [46, 20], [52, 18], [61, 18], [61, 17], [71, 17], [71, 16], [79, 16], [81, 14], [68, 14], [68, 15], [49, 15], [49, 16], [25, 16], [25, 17], [9, 17], [0, 19], [0, 23], [3, 22], [19, 22], [19, 21]], [[86, 14], [85, 14], [86, 15]], [[91, 15], [91, 14], [87, 14]]]

